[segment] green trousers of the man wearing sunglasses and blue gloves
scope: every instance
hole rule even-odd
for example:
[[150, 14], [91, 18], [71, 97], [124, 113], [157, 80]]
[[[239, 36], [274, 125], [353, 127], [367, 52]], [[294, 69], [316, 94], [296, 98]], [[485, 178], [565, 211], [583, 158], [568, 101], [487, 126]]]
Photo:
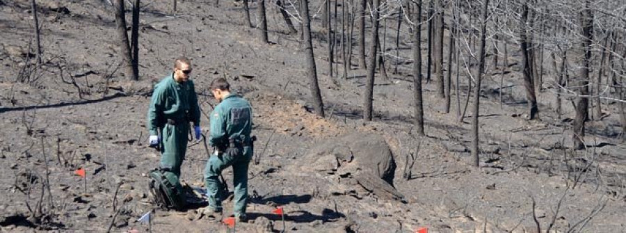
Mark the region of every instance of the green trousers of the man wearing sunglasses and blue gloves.
[[180, 177], [180, 166], [187, 151], [189, 124], [165, 124], [161, 131], [161, 168], [169, 168]]

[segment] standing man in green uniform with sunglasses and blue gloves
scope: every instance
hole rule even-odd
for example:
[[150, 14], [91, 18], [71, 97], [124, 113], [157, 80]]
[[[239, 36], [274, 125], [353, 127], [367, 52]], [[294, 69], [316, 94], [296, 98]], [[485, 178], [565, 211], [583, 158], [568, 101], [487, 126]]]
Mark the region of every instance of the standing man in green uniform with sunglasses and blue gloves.
[[195, 138], [200, 139], [200, 107], [190, 74], [191, 61], [177, 58], [174, 72], [154, 86], [147, 112], [150, 146], [159, 145], [161, 168], [177, 177], [187, 150], [189, 122], [193, 122]]

